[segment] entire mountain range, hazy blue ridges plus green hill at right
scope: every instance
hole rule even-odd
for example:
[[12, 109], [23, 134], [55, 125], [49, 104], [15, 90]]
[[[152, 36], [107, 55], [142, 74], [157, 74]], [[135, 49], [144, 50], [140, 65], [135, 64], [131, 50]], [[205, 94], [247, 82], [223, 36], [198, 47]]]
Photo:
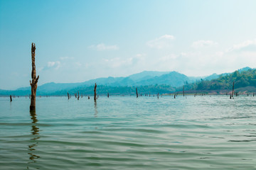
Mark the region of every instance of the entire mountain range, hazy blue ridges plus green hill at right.
[[[256, 69], [245, 67], [233, 73], [212, 74], [208, 77], [187, 77], [178, 72], [141, 72], [129, 77], [107, 77], [92, 79], [81, 83], [55, 84], [38, 86], [38, 96], [63, 96], [67, 93], [93, 94], [97, 83], [97, 94], [134, 94], [136, 87], [142, 94], [169, 94], [175, 91], [221, 91], [230, 90], [235, 81], [238, 91], [256, 92]], [[245, 89], [246, 87], [246, 89]], [[242, 89], [241, 89], [242, 88]], [[0, 89], [0, 96], [25, 96], [31, 93], [31, 87], [19, 88], [16, 91]]]

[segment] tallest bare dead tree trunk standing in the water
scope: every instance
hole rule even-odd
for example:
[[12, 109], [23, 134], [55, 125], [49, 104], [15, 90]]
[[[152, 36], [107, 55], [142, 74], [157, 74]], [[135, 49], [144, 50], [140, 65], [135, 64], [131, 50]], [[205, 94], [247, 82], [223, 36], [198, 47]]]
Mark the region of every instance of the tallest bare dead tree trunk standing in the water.
[[36, 89], [37, 89], [37, 82], [38, 82], [38, 79], [39, 79], [39, 76], [36, 77], [35, 56], [36, 56], [36, 45], [35, 45], [35, 43], [32, 43], [32, 45], [31, 45], [31, 57], [32, 57], [31, 78], [32, 78], [32, 82], [30, 81], [30, 84], [31, 84], [31, 106], [30, 106], [30, 111], [36, 111]]

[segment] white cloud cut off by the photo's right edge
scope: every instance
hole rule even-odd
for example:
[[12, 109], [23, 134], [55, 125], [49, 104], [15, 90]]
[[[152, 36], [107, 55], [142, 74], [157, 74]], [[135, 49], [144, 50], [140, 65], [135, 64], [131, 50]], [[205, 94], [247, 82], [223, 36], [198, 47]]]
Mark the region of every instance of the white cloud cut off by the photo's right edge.
[[256, 51], [256, 39], [255, 40], [246, 40], [240, 44], [233, 45], [230, 47], [227, 52], [232, 51]]

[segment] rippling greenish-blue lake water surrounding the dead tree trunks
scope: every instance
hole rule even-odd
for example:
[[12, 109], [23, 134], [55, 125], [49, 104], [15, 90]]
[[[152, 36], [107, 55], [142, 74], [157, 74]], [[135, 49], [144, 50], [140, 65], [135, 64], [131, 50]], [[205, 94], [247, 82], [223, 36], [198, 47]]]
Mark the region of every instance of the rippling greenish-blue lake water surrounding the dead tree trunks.
[[0, 98], [0, 169], [256, 169], [256, 97]]

